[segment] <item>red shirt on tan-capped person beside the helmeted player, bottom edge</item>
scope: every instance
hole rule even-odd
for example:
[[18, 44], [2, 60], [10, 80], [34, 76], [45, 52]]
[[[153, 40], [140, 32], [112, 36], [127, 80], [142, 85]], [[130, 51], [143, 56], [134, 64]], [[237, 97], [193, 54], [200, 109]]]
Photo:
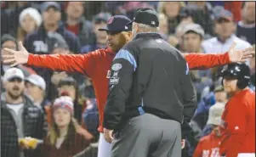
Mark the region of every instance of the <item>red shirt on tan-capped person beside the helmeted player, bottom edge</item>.
[[220, 137], [211, 132], [200, 139], [193, 157], [219, 157], [219, 143]]

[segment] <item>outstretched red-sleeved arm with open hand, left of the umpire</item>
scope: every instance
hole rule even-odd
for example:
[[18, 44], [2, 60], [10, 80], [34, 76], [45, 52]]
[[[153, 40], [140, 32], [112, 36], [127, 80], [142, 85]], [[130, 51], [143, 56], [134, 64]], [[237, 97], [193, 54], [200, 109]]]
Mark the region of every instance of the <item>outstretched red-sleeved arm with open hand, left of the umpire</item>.
[[9, 54], [3, 54], [3, 63], [15, 66], [17, 64], [29, 64], [50, 70], [63, 70], [68, 72], [80, 72], [92, 76], [94, 67], [100, 59], [101, 51], [96, 50], [88, 54], [31, 54], [28, 53], [22, 43], [19, 43], [20, 51], [4, 48]]

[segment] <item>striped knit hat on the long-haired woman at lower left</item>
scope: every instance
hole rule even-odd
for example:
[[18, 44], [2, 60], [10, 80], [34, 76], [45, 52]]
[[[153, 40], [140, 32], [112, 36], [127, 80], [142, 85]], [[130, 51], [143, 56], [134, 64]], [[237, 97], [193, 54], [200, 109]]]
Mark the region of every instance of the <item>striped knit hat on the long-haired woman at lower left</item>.
[[71, 115], [73, 115], [74, 113], [74, 104], [72, 102], [72, 99], [68, 96], [62, 96], [55, 99], [53, 104], [53, 111], [59, 108], [68, 110]]

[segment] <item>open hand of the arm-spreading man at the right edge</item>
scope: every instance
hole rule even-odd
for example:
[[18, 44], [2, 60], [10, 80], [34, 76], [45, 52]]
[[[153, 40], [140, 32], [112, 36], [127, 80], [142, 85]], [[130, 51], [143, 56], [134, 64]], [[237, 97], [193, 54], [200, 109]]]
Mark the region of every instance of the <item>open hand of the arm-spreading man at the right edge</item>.
[[236, 50], [236, 42], [231, 45], [228, 54], [230, 57], [230, 62], [246, 62], [247, 59], [252, 58], [255, 55], [255, 49], [253, 47], [246, 48], [243, 50]]

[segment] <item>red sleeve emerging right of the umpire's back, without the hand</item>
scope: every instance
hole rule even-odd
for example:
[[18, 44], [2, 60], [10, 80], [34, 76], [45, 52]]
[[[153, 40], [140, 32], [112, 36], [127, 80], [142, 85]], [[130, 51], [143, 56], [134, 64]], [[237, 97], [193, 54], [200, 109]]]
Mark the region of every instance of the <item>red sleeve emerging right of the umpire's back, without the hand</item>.
[[185, 60], [190, 70], [206, 70], [217, 65], [230, 64], [228, 53], [206, 54], [206, 53], [185, 53]]

